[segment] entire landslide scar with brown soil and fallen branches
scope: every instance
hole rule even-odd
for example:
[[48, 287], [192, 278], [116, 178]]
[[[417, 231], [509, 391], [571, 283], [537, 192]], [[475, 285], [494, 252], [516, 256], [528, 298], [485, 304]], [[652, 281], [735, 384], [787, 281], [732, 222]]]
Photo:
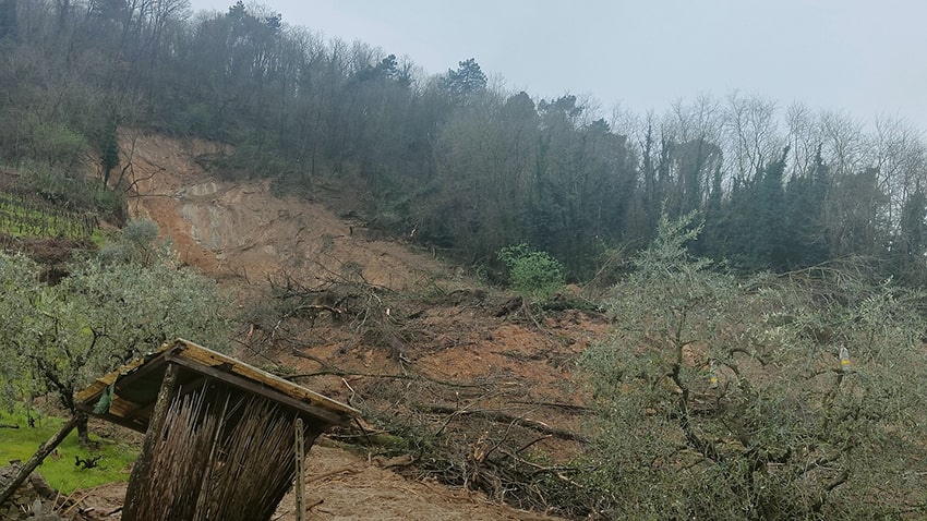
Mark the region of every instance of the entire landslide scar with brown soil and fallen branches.
[[[366, 460], [313, 452], [309, 493], [324, 500], [313, 519], [535, 519], [479, 493], [543, 509], [532, 480], [568, 485], [556, 465], [585, 439], [573, 361], [604, 335], [603, 319], [570, 305], [531, 312], [378, 237], [354, 207], [332, 207], [346, 198], [325, 180], [314, 180], [313, 201], [278, 196], [265, 180], [206, 172], [229, 152], [220, 145], [128, 131], [122, 143], [131, 215], [155, 220], [183, 263], [246, 295], [239, 354], [366, 412], [354, 432], [332, 435], [360, 441], [352, 450]], [[406, 481], [387, 486], [383, 470], [366, 470], [384, 465]], [[387, 512], [384, 501], [399, 506]]]

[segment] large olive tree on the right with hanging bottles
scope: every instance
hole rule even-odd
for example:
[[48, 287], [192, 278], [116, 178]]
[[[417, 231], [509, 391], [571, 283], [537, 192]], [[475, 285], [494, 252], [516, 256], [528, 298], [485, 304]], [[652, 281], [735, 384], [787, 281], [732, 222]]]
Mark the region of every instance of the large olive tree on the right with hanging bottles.
[[661, 220], [588, 350], [590, 485], [616, 518], [925, 511], [924, 295], [848, 269], [738, 279]]

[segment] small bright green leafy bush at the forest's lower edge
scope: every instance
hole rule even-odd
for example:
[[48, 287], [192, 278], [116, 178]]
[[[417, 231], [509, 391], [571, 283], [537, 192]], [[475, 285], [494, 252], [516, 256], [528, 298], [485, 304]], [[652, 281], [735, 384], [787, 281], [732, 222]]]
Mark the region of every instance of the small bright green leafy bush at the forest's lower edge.
[[508, 268], [511, 288], [523, 296], [546, 300], [564, 286], [563, 264], [546, 252], [522, 243], [499, 250], [498, 258]]

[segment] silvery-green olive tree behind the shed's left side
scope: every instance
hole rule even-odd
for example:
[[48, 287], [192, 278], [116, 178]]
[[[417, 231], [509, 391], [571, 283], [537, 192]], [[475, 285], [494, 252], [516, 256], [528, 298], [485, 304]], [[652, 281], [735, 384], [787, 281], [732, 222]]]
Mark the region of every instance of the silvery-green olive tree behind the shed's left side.
[[[227, 349], [228, 298], [216, 282], [162, 259], [149, 265], [85, 260], [58, 284], [28, 259], [0, 254], [0, 351], [19, 367], [7, 396], [50, 392], [79, 414], [74, 392], [130, 359], [185, 337]], [[77, 424], [87, 441], [87, 424]]]

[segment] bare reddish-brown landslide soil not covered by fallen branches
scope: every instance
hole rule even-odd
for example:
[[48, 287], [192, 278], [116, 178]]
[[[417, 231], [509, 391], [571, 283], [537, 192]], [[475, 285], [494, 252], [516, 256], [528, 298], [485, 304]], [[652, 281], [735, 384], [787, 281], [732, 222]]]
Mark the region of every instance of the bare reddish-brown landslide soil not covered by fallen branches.
[[[336, 365], [361, 374], [402, 371], [414, 364], [436, 379], [492, 380], [508, 389], [507, 413], [552, 428], [577, 427], [574, 416], [558, 412], [563, 408], [539, 404], [569, 405], [576, 399], [576, 387], [568, 385], [570, 361], [605, 335], [603, 320], [569, 311], [544, 318], [543, 324], [508, 320], [494, 313], [504, 299], [493, 300], [474, 290], [478, 284], [462, 269], [443, 264], [432, 252], [369, 231], [354, 217], [350, 198], [330, 197], [324, 180], [314, 180], [318, 196], [306, 202], [274, 194], [267, 180], [231, 182], [206, 172], [197, 159], [227, 153], [220, 145], [135, 131], [123, 131], [121, 138], [123, 165], [131, 163], [125, 172], [134, 182], [130, 214], [156, 221], [182, 263], [241, 291], [242, 306], [266, 294], [268, 280], [281, 274], [311, 284], [353, 270], [372, 287], [438, 295], [438, 305], [402, 301], [397, 308], [384, 307], [384, 320], [402, 317], [401, 324], [395, 322], [399, 352], [371, 347], [350, 327], [329, 322], [299, 334], [305, 349], [261, 352], [258, 362], [273, 359], [275, 365], [306, 374]], [[412, 329], [413, 334], [408, 332]], [[246, 335], [250, 339], [256, 332]], [[333, 375], [300, 380], [346, 402], [356, 402], [365, 392], [365, 381]], [[523, 405], [513, 405], [514, 396]], [[470, 398], [471, 404], [490, 401]], [[569, 456], [563, 440], [546, 438], [538, 443], [539, 448]], [[556, 519], [493, 504], [480, 493], [416, 478], [408, 472], [407, 477], [395, 472], [404, 465], [392, 460], [365, 459], [325, 445], [330, 444], [323, 438], [322, 446], [314, 446], [310, 453], [306, 496], [314, 506], [309, 519]], [[109, 512], [123, 494], [124, 485], [107, 485], [91, 490], [83, 505], [97, 513]], [[282, 501], [278, 516], [296, 519], [292, 496]]]

